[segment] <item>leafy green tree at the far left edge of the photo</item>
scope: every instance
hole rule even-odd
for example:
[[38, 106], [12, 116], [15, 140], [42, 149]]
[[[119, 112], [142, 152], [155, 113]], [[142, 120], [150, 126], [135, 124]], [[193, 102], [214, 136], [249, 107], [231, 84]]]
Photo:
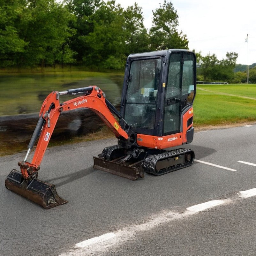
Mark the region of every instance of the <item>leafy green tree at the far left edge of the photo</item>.
[[26, 0], [0, 0], [0, 66], [15, 64], [15, 56], [24, 52], [26, 42], [19, 37], [18, 24], [25, 16]]

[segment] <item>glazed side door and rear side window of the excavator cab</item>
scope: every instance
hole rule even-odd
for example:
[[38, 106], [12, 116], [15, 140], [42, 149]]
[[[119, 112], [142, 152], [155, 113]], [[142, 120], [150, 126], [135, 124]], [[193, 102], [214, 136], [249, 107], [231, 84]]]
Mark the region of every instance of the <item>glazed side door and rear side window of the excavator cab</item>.
[[172, 52], [164, 99], [163, 135], [182, 131], [182, 112], [195, 96], [195, 55], [192, 52]]

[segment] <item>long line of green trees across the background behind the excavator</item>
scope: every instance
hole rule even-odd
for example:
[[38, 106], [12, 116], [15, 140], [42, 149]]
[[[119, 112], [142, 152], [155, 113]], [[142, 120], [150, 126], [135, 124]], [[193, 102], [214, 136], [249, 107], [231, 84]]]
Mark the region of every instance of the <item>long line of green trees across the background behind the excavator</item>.
[[[171, 1], [152, 12], [147, 30], [137, 3], [124, 9], [114, 0], [0, 0], [0, 67], [82, 64], [118, 70], [131, 53], [189, 49]], [[198, 78], [231, 81], [237, 56], [227, 52], [218, 60], [197, 53]]]

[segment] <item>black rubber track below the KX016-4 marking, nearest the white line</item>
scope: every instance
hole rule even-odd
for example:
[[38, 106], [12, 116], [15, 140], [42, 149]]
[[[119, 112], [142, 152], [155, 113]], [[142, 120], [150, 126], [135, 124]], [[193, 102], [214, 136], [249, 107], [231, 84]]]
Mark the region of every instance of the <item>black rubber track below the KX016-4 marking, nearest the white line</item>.
[[156, 163], [158, 161], [164, 160], [169, 157], [175, 157], [176, 155], [185, 154], [188, 152], [193, 152], [193, 151], [191, 149], [178, 148], [171, 151], [163, 152], [161, 154], [148, 155], [144, 160], [144, 164], [143, 164], [144, 171], [158, 176], [158, 175], [162, 175], [171, 171], [175, 171], [175, 170], [190, 166], [194, 162], [193, 160], [190, 162], [185, 162], [184, 164], [178, 164], [177, 166], [170, 166], [169, 168], [167, 167], [167, 169], [164, 169], [162, 171], [160, 170], [159, 172], [157, 172], [155, 169]]

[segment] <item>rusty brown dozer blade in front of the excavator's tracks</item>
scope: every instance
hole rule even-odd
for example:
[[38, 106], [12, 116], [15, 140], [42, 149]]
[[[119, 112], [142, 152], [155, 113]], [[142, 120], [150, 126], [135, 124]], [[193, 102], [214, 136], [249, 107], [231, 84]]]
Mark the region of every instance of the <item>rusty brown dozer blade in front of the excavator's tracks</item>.
[[144, 173], [142, 171], [143, 161], [139, 161], [130, 165], [124, 165], [124, 164], [115, 162], [115, 160], [108, 161], [95, 156], [93, 159], [94, 159], [93, 167], [95, 169], [110, 172], [112, 174], [130, 179], [130, 180], [136, 180], [138, 177], [141, 177], [141, 178], [144, 177]]

